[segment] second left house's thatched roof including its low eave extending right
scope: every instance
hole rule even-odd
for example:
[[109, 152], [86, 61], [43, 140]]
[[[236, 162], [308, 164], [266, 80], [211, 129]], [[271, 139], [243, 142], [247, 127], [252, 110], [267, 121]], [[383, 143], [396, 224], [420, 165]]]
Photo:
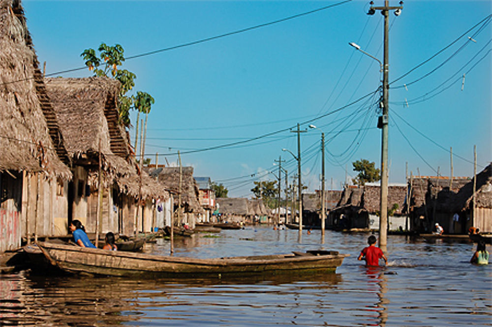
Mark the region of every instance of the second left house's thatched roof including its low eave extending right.
[[89, 184], [97, 185], [98, 151], [105, 185], [116, 182], [127, 195], [167, 198], [169, 193], [146, 173], [142, 183], [130, 157], [128, 136], [118, 123], [120, 83], [107, 77], [47, 78], [46, 89], [55, 108], [68, 155], [90, 170]]

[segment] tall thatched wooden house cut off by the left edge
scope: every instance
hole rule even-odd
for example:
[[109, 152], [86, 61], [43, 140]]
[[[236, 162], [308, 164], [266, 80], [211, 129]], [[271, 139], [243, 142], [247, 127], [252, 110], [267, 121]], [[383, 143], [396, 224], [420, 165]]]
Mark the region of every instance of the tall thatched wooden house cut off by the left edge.
[[20, 246], [21, 235], [57, 232], [71, 173], [19, 1], [0, 0], [0, 66], [2, 252]]

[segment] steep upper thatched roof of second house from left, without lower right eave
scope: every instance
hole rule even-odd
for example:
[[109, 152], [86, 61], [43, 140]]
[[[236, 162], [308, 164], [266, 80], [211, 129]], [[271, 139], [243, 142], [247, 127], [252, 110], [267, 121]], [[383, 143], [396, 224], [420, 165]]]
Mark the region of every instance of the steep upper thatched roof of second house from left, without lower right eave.
[[120, 83], [107, 77], [47, 78], [45, 81], [70, 158], [77, 161], [84, 157], [88, 164], [96, 164], [94, 159], [98, 157], [100, 140], [103, 169], [109, 173], [109, 179], [117, 174], [133, 174], [127, 162], [128, 140], [118, 124]]

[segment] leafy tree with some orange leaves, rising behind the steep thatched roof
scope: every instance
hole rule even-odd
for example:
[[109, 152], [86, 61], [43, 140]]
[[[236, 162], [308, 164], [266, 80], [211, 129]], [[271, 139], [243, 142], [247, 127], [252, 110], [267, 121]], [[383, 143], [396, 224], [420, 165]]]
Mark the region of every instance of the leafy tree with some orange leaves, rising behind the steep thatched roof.
[[120, 44], [108, 46], [106, 43], [101, 43], [99, 48], [99, 56], [92, 48], [85, 49], [80, 55], [84, 60], [89, 70], [94, 71], [94, 76], [106, 76], [115, 78], [120, 81], [122, 87], [118, 97], [119, 102], [119, 119], [124, 126], [130, 126], [129, 111], [133, 105], [133, 98], [126, 96], [126, 93], [135, 86], [136, 75], [126, 69], [120, 69], [124, 62], [124, 50]]

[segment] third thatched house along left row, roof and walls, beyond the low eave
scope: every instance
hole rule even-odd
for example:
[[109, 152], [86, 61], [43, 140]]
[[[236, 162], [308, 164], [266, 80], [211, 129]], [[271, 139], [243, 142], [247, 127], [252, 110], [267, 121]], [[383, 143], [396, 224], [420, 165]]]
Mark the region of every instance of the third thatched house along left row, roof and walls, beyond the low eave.
[[[188, 224], [195, 227], [197, 217], [204, 213], [198, 200], [198, 184], [193, 178], [193, 167], [164, 167], [147, 168], [150, 175], [174, 196], [175, 224]], [[178, 210], [181, 208], [181, 210]]]

